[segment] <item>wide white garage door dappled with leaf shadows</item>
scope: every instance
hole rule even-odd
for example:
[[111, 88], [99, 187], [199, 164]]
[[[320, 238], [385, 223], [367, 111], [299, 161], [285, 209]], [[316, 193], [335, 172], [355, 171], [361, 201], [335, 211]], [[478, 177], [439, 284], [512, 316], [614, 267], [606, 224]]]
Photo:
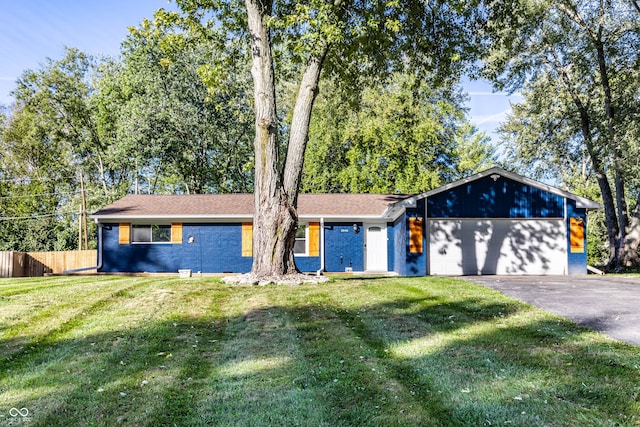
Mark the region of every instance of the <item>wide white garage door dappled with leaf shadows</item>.
[[562, 219], [429, 220], [429, 274], [565, 274]]

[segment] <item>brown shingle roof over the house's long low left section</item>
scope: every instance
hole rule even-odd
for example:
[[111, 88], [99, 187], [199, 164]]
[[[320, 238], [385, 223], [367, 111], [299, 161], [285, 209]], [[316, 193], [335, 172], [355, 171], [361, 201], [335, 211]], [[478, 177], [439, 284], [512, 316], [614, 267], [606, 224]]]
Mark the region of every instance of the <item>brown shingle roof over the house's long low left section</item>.
[[[382, 216], [390, 204], [406, 199], [399, 194], [300, 194], [298, 215]], [[252, 216], [253, 194], [142, 195], [130, 194], [92, 216], [179, 217]]]

